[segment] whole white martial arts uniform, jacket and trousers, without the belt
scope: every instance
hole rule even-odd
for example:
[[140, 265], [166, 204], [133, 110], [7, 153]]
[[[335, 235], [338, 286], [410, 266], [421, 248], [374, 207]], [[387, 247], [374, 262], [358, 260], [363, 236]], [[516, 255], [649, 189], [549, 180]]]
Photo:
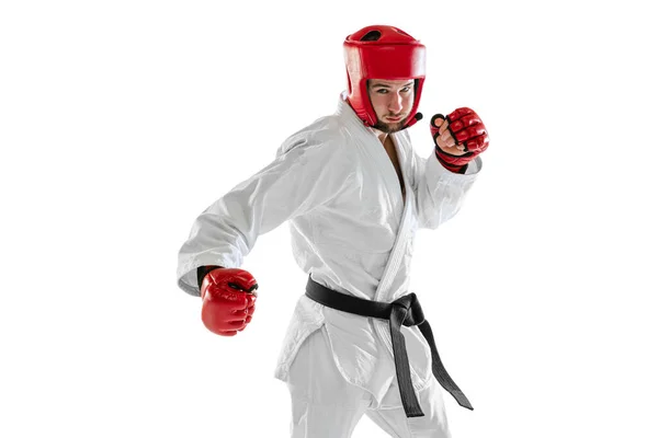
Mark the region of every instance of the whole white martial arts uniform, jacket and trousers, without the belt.
[[[466, 174], [452, 173], [433, 148], [428, 159], [419, 157], [407, 130], [390, 136], [406, 201], [384, 146], [343, 92], [336, 114], [287, 138], [271, 164], [196, 219], [179, 254], [179, 286], [198, 296], [198, 266], [240, 267], [259, 235], [288, 220], [295, 261], [315, 281], [377, 301], [408, 293], [416, 230], [434, 229], [457, 212], [481, 160], [472, 161]], [[450, 436], [430, 348], [417, 326], [404, 326], [402, 334], [424, 417], [406, 418], [401, 408], [388, 321], [325, 308], [302, 295], [275, 370], [291, 389], [293, 437], [349, 437], [365, 411], [394, 437]], [[314, 415], [318, 406], [321, 413]], [[345, 428], [345, 422], [353, 425]]]

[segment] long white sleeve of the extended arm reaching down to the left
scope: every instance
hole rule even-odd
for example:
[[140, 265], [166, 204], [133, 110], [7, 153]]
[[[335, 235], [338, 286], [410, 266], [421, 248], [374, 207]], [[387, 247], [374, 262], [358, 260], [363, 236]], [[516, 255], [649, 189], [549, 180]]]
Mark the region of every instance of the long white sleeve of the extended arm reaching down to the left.
[[272, 163], [213, 203], [179, 252], [178, 286], [200, 296], [198, 266], [240, 267], [259, 235], [331, 200], [348, 180], [343, 145], [291, 139]]

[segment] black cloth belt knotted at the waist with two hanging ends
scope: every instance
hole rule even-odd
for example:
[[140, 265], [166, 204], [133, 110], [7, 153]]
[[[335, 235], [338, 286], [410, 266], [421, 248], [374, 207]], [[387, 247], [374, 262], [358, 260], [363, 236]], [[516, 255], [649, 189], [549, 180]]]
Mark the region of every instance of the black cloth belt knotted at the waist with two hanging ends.
[[409, 358], [407, 357], [407, 347], [405, 345], [405, 336], [400, 331], [402, 324], [406, 326], [418, 325], [420, 333], [424, 336], [432, 350], [432, 372], [439, 383], [455, 397], [461, 406], [473, 411], [473, 406], [466, 395], [451, 379], [447, 371], [441, 362], [436, 345], [434, 344], [434, 335], [430, 323], [426, 321], [420, 308], [420, 302], [416, 293], [409, 293], [393, 302], [381, 302], [364, 300], [349, 295], [340, 293], [331, 290], [308, 276], [306, 285], [306, 296], [311, 300], [319, 302], [331, 309], [342, 312], [353, 313], [362, 316], [378, 318], [388, 320], [390, 327], [390, 339], [393, 341], [393, 356], [395, 359], [395, 372], [398, 378], [400, 388], [400, 396], [402, 406], [407, 417], [422, 417], [424, 414], [420, 408], [413, 384], [411, 383], [411, 370], [409, 369]]

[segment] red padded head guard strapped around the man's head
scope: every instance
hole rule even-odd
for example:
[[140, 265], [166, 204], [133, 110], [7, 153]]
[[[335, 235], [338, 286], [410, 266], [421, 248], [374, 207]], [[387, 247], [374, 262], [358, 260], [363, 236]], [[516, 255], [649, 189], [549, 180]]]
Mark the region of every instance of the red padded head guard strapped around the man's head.
[[405, 128], [422, 118], [417, 112], [426, 77], [426, 47], [418, 39], [394, 26], [374, 25], [348, 35], [343, 48], [348, 101], [366, 125], [377, 123], [367, 93], [368, 79], [415, 79], [413, 106]]

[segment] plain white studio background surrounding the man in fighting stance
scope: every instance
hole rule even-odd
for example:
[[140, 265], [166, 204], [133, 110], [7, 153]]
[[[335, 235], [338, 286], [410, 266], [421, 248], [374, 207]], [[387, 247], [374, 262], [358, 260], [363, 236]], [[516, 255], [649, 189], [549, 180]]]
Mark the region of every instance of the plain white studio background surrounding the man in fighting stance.
[[420, 154], [434, 113], [470, 106], [490, 131], [412, 268], [475, 405], [445, 394], [453, 435], [658, 436], [649, 2], [220, 3], [2, 2], [0, 436], [287, 436], [273, 371], [306, 281], [287, 227], [246, 258], [260, 296], [234, 338], [203, 327], [177, 254], [334, 111], [342, 42], [377, 23], [428, 48]]

